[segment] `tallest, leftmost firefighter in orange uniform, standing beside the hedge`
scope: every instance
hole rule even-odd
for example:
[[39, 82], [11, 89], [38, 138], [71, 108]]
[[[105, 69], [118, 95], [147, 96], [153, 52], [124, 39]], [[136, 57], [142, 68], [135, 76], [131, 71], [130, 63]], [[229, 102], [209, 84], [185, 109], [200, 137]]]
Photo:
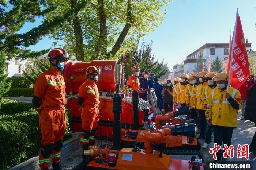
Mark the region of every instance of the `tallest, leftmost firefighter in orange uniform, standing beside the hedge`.
[[40, 74], [35, 82], [32, 103], [39, 114], [39, 127], [42, 133], [42, 148], [39, 163], [42, 170], [48, 170], [52, 157], [53, 170], [61, 170], [60, 150], [65, 134], [65, 82], [60, 71], [64, 69], [68, 53], [56, 48], [48, 54], [51, 66]]

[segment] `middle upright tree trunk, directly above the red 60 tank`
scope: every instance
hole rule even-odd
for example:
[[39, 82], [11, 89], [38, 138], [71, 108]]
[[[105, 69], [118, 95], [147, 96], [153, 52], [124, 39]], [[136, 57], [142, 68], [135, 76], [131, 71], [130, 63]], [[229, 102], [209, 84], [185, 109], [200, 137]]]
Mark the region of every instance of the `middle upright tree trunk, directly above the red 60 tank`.
[[92, 59], [99, 59], [99, 56], [101, 54], [105, 54], [107, 51], [107, 45], [104, 45], [107, 43], [107, 18], [105, 15], [105, 8], [104, 8], [104, 1], [98, 0], [99, 7], [99, 39], [97, 42], [97, 46], [95, 48], [95, 56]]

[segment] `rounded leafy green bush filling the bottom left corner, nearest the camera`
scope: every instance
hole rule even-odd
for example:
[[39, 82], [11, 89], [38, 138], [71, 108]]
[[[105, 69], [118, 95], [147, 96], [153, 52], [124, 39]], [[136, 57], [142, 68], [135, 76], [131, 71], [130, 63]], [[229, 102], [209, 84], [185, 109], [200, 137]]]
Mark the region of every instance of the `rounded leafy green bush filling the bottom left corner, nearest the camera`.
[[9, 169], [27, 159], [31, 149], [29, 126], [20, 121], [0, 121], [0, 169]]

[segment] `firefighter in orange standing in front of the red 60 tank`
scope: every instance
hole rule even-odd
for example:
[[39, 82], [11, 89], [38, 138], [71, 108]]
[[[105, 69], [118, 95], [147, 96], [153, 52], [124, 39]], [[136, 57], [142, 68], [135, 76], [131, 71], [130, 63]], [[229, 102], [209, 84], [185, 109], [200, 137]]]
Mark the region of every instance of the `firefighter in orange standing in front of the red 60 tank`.
[[99, 123], [99, 91], [96, 85], [101, 69], [91, 65], [86, 69], [87, 81], [78, 90], [78, 105], [82, 107], [81, 120], [83, 134], [80, 142], [83, 150], [88, 150], [88, 146], [94, 144], [94, 135]]

